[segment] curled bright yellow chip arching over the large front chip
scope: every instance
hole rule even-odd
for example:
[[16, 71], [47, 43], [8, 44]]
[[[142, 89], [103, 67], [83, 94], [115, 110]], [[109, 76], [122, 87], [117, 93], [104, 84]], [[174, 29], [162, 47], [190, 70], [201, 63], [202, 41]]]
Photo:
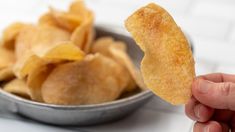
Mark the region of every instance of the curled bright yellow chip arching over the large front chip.
[[71, 42], [62, 42], [51, 49], [37, 47], [34, 52], [27, 53], [17, 61], [14, 72], [19, 78], [23, 78], [38, 68], [61, 61], [79, 61], [85, 54]]

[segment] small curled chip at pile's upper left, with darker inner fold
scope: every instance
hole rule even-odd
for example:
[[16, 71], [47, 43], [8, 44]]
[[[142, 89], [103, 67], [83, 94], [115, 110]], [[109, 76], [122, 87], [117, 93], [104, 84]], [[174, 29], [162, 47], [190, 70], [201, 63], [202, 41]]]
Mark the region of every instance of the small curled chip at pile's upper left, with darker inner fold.
[[2, 46], [7, 49], [14, 49], [15, 48], [15, 39], [19, 32], [24, 28], [26, 24], [16, 22], [8, 26], [3, 31], [2, 37]]

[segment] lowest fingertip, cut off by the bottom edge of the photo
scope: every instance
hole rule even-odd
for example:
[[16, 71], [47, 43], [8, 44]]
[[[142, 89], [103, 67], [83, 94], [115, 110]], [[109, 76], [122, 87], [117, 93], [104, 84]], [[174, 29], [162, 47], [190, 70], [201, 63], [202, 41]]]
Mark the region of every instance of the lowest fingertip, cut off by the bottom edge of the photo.
[[209, 121], [207, 123], [195, 123], [193, 132], [229, 132], [229, 127], [226, 124], [216, 121]]

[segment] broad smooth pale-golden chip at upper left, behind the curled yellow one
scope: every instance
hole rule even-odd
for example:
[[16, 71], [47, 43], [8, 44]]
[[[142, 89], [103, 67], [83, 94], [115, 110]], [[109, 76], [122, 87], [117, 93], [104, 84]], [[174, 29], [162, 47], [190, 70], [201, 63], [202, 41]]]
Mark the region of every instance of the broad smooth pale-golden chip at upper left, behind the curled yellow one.
[[[23, 28], [16, 40], [16, 57], [21, 58], [28, 50], [36, 47], [50, 49], [58, 42], [68, 41], [70, 33], [50, 25], [26, 26]], [[39, 49], [40, 47], [41, 49]]]

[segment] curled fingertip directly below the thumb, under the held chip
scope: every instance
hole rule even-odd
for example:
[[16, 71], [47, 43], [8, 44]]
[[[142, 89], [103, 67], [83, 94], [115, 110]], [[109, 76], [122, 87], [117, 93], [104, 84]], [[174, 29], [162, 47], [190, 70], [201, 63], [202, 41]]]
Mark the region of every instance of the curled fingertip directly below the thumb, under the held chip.
[[192, 120], [206, 122], [212, 117], [214, 109], [205, 106], [196, 101], [195, 98], [192, 98], [185, 106], [185, 113]]

